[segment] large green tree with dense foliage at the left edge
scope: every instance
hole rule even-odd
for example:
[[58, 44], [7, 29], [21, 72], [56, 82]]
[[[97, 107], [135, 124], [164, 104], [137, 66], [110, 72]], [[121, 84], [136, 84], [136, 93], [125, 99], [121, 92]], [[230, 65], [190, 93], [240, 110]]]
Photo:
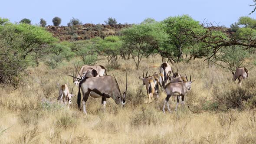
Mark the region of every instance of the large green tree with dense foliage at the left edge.
[[44, 28], [26, 23], [0, 26], [0, 83], [17, 86], [29, 63], [56, 41]]

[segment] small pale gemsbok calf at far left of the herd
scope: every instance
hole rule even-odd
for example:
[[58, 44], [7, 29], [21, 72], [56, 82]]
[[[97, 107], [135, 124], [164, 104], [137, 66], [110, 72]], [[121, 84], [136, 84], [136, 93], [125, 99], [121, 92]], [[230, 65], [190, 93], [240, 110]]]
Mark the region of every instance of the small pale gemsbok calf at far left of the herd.
[[[57, 98], [57, 100], [63, 100], [64, 104], [66, 105], [66, 102], [69, 101], [69, 105], [72, 103], [72, 98], [75, 96], [72, 94], [73, 92], [73, 88], [72, 87], [72, 91], [71, 94], [69, 93], [69, 88], [68, 86], [65, 85], [61, 85], [61, 88], [59, 89], [59, 97]], [[69, 108], [69, 106], [68, 106]]]

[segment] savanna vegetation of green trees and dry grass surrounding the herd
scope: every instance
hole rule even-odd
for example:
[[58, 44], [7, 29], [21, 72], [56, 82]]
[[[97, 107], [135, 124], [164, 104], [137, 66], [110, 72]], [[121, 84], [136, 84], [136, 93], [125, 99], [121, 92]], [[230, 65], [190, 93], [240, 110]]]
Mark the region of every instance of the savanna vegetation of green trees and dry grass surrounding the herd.
[[[116, 36], [73, 42], [59, 42], [41, 22], [0, 18], [0, 143], [256, 143], [255, 19], [243, 16], [220, 29], [189, 15], [148, 18]], [[162, 112], [164, 91], [158, 102], [146, 103], [138, 78], [144, 70], [159, 72], [165, 60], [195, 79], [177, 112], [171, 98], [171, 114]], [[104, 65], [121, 90], [128, 72], [125, 108], [109, 98], [104, 111], [101, 98], [89, 98], [83, 115], [76, 98], [69, 109], [59, 103], [57, 84], [72, 88], [68, 75], [78, 62]], [[245, 66], [249, 77], [240, 88], [231, 72]]]

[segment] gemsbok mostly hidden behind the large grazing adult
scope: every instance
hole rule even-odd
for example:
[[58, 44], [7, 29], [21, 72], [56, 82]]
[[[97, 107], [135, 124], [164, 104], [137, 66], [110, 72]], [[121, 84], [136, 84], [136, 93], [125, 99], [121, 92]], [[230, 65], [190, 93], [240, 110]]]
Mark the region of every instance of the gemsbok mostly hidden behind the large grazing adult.
[[102, 65], [84, 65], [84, 66], [82, 66], [78, 75], [76, 76], [76, 78], [79, 78], [79, 79], [76, 79], [76, 78], [73, 79], [73, 82], [76, 86], [79, 85], [79, 82], [80, 82], [79, 80], [81, 80], [81, 75], [83, 75], [84, 72], [86, 73], [87, 69], [89, 69], [89, 68], [95, 69], [98, 72], [99, 76], [103, 76], [104, 73], [107, 75], [106, 69]]

